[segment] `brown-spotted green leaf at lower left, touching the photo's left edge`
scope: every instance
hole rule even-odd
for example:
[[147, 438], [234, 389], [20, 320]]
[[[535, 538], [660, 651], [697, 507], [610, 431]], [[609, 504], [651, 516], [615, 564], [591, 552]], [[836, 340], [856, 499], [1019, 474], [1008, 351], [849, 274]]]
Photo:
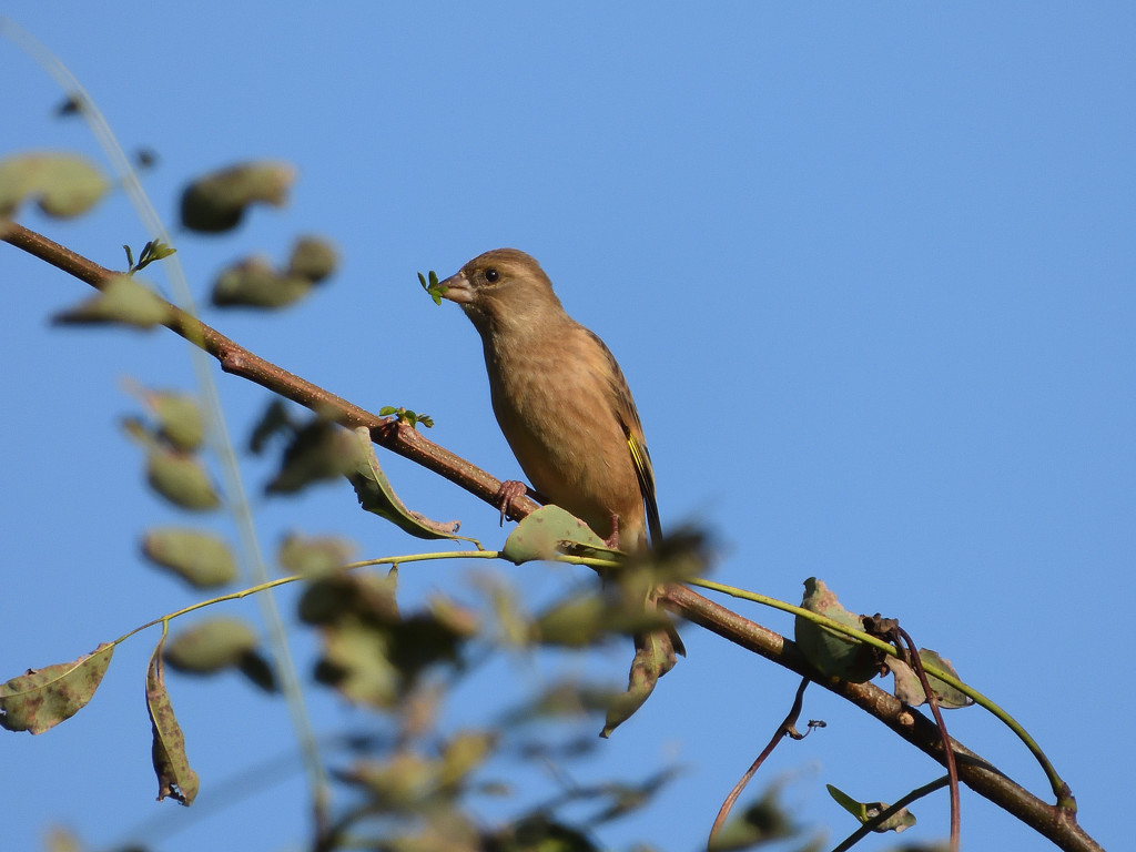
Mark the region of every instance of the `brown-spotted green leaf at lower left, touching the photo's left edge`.
[[42, 734], [84, 707], [107, 674], [115, 646], [103, 642], [72, 662], [28, 669], [0, 686], [0, 726]]

